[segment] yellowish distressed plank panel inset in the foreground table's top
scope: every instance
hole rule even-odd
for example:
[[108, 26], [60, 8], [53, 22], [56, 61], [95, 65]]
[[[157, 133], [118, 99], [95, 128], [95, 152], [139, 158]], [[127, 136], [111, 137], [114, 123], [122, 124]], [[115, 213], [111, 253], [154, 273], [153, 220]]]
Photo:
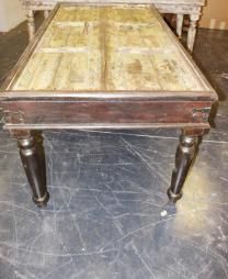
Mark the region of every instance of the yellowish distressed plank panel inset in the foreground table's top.
[[60, 5], [12, 90], [204, 91], [149, 4]]

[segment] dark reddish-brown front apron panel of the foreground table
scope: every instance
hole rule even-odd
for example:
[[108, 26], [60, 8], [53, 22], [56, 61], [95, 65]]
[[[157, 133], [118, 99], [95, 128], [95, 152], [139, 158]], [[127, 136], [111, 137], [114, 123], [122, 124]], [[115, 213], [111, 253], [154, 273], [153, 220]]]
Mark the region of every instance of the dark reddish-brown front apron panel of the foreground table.
[[210, 101], [7, 101], [5, 124], [205, 124]]

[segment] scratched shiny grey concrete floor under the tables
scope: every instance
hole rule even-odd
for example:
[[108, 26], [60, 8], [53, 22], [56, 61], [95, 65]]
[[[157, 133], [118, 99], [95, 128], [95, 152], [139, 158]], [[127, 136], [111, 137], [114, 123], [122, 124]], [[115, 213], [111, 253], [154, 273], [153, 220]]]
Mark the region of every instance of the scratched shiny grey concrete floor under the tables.
[[[0, 36], [1, 82], [26, 43]], [[0, 279], [228, 278], [228, 32], [200, 30], [194, 57], [220, 104], [175, 207], [179, 131], [45, 132], [45, 209], [0, 132]]]

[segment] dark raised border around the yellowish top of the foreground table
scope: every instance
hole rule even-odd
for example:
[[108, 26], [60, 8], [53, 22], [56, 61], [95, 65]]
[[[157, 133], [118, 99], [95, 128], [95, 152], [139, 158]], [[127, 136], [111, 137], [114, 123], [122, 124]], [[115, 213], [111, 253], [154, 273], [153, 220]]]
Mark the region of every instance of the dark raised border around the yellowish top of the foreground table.
[[[148, 90], [148, 91], [141, 91], [141, 90], [128, 90], [128, 91], [119, 91], [115, 90], [112, 93], [109, 91], [102, 92], [102, 90], [98, 91], [75, 91], [75, 90], [13, 90], [12, 87], [15, 85], [18, 81], [18, 78], [20, 77], [21, 72], [24, 70], [24, 67], [26, 66], [30, 57], [33, 55], [37, 44], [39, 43], [41, 38], [43, 37], [45, 31], [52, 23], [54, 16], [56, 15], [58, 9], [61, 7], [112, 7], [112, 5], [141, 5], [140, 3], [81, 3], [81, 2], [58, 2], [53, 11], [50, 12], [49, 16], [44, 21], [43, 25], [39, 27], [38, 32], [35, 34], [34, 40], [29, 44], [29, 46], [25, 48], [24, 53], [22, 54], [21, 58], [19, 62], [15, 64], [13, 69], [11, 70], [10, 75], [5, 79], [3, 86], [1, 87], [0, 90], [0, 99], [1, 100], [7, 100], [7, 99], [25, 99], [25, 98], [47, 98], [47, 99], [53, 99], [53, 98], [130, 98], [130, 99], [136, 99], [136, 98], [146, 98], [146, 99], [163, 99], [163, 98], [173, 98], [173, 99], [179, 99], [179, 98], [184, 98], [186, 100], [197, 100], [198, 98], [205, 98], [205, 100], [212, 100], [212, 101], [217, 101], [218, 97], [215, 90], [212, 88], [205, 76], [202, 74], [198, 66], [195, 64], [191, 55], [186, 52], [186, 49], [183, 47], [183, 45], [176, 40], [175, 35], [172, 33], [170, 27], [167, 25], [167, 23], [162, 20], [161, 15], [155, 9], [156, 11], [156, 16], [158, 21], [162, 24], [164, 30], [167, 31], [168, 36], [172, 40], [173, 44], [176, 46], [179, 54], [182, 56], [182, 58], [185, 60], [187, 66], [193, 70], [195, 77], [197, 78], [197, 81], [202, 83], [205, 88], [208, 88], [208, 90], [202, 90], [202, 91], [169, 91], [169, 90]], [[142, 5], [147, 7], [155, 7], [153, 4], [149, 3], [142, 3]]]

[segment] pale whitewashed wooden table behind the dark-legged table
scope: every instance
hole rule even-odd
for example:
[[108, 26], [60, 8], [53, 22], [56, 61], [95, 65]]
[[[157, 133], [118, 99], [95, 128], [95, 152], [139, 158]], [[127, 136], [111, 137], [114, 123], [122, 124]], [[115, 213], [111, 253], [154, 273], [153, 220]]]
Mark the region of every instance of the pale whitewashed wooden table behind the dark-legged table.
[[[48, 16], [49, 10], [58, 2], [58, 0], [21, 0], [27, 14], [27, 29], [30, 40], [34, 37], [35, 34], [35, 22], [34, 12], [44, 11], [45, 18]], [[67, 2], [68, 0], [61, 0], [61, 2]], [[94, 2], [95, 0], [89, 0], [89, 2]], [[79, 2], [79, 0], [71, 0], [70, 2]], [[82, 1], [83, 2], [83, 1]], [[101, 0], [100, 2], [109, 2], [109, 0]], [[115, 2], [129, 2], [128, 0], [116, 0]], [[190, 52], [193, 51], [197, 21], [201, 16], [202, 7], [205, 4], [205, 0], [132, 0], [134, 2], [145, 2], [153, 3], [156, 8], [161, 13], [174, 13], [176, 14], [176, 34], [181, 38], [182, 26], [184, 14], [190, 15], [190, 29], [187, 32], [187, 48]]]

